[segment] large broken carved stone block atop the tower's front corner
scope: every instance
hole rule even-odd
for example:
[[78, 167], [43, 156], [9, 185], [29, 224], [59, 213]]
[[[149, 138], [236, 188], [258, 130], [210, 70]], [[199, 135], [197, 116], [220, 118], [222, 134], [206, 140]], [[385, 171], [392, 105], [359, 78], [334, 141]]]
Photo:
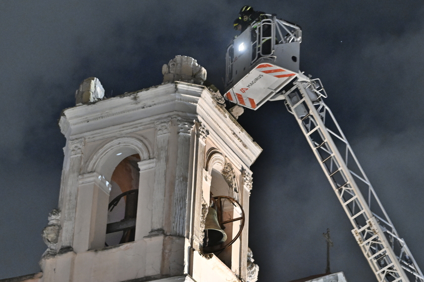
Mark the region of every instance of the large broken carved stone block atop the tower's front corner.
[[187, 56], [175, 56], [168, 65], [162, 67], [164, 83], [184, 81], [203, 85], [206, 80], [206, 70], [197, 61]]

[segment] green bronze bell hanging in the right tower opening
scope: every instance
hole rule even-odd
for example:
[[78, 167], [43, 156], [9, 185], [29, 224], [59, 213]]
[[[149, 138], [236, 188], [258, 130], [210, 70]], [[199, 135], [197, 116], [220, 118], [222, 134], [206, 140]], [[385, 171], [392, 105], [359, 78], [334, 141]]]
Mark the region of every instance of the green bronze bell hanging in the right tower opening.
[[203, 247], [213, 247], [224, 243], [227, 240], [227, 234], [221, 229], [218, 221], [217, 211], [209, 207], [204, 222]]

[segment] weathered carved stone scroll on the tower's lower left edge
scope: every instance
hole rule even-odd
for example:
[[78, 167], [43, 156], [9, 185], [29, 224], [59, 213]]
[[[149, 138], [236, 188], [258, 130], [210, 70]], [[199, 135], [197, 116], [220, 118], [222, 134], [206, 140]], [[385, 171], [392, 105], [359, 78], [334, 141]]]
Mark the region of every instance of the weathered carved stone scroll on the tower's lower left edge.
[[61, 211], [57, 208], [52, 209], [48, 214], [48, 224], [43, 229], [41, 237], [48, 249], [44, 252], [44, 255], [54, 255], [57, 253], [57, 245], [59, 241], [59, 234], [61, 232], [60, 225]]

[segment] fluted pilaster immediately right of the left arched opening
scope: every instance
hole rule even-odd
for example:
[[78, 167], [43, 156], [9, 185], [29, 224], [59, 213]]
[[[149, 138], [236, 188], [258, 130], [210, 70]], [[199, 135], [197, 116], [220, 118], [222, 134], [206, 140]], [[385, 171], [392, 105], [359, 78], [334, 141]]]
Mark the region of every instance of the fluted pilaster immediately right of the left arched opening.
[[164, 228], [165, 183], [171, 119], [157, 121], [155, 127], [157, 130], [156, 173], [153, 192], [152, 231]]

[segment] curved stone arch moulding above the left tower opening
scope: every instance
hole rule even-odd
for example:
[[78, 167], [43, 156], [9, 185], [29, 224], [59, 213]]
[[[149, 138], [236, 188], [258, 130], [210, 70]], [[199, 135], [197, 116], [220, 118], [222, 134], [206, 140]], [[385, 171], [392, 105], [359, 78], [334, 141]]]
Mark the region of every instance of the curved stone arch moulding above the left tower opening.
[[108, 181], [111, 180], [115, 167], [124, 158], [138, 154], [141, 160], [151, 158], [151, 148], [142, 140], [134, 137], [120, 137], [114, 139], [90, 156], [85, 167], [86, 172], [96, 172]]

